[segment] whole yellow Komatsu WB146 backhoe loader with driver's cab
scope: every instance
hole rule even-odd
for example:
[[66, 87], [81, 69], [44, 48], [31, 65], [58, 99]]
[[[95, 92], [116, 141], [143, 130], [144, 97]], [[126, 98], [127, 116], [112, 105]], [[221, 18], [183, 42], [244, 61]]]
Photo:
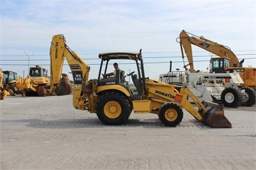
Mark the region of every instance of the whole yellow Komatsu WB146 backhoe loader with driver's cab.
[[[186, 86], [177, 90], [175, 85], [145, 77], [141, 50], [139, 53], [100, 53], [97, 80], [89, 80], [90, 66], [75, 51], [71, 51], [63, 35], [53, 36], [50, 58], [53, 77], [61, 72], [64, 59], [69, 64], [74, 78], [74, 108], [96, 113], [103, 124], [124, 124], [133, 110], [135, 114], [157, 114], [165, 126], [176, 126], [183, 118], [183, 108], [211, 127], [231, 127], [224, 116], [223, 104], [200, 102]], [[108, 66], [121, 61], [130, 63], [131, 68], [137, 71], [127, 74], [132, 77], [136, 91], [130, 90], [124, 71], [117, 70], [113, 77], [101, 77], [102, 73], [106, 74]], [[188, 96], [194, 100], [198, 110], [188, 101]]]

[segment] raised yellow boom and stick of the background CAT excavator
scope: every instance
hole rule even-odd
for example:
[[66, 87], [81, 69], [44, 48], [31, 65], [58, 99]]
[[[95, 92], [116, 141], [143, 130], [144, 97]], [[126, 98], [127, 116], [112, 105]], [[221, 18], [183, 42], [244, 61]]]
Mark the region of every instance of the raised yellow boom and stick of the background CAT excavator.
[[[192, 36], [189, 36], [189, 35], [192, 35]], [[185, 30], [181, 31], [179, 38], [180, 38], [179, 43], [180, 43], [183, 62], [184, 62], [183, 49], [188, 59], [188, 64], [185, 65], [184, 63], [184, 68], [186, 70], [189, 70], [190, 72], [196, 72], [196, 70], [194, 69], [191, 44], [198, 46], [200, 48], [203, 48], [204, 50], [209, 51], [215, 55], [229, 58], [230, 67], [242, 67], [243, 65], [244, 60], [239, 62], [237, 56], [227, 46], [215, 43], [209, 39], [204, 38], [203, 36], [198, 37], [196, 35], [186, 32]], [[190, 68], [187, 69], [187, 66], [190, 66]]]

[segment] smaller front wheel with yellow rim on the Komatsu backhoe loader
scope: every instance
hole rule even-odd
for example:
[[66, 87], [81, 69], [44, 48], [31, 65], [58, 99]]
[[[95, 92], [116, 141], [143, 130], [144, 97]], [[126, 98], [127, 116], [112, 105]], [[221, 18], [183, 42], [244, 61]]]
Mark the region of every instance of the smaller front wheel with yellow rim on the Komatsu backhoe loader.
[[160, 107], [158, 117], [165, 126], [177, 126], [183, 119], [183, 110], [178, 104], [167, 102]]

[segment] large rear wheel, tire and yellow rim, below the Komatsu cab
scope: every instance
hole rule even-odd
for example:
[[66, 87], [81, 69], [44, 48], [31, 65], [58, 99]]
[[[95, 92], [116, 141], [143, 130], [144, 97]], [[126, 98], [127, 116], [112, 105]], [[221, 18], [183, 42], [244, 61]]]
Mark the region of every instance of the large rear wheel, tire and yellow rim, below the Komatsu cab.
[[97, 116], [106, 125], [122, 125], [131, 114], [131, 106], [126, 97], [111, 92], [100, 97], [97, 104]]

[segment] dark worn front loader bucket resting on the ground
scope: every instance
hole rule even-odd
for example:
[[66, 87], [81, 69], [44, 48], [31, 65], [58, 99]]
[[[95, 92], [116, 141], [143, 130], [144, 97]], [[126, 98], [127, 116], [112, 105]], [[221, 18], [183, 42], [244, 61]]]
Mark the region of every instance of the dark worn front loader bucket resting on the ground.
[[207, 112], [203, 109], [198, 110], [203, 117], [203, 122], [211, 127], [232, 127], [229, 120], [224, 116], [223, 104], [217, 104], [209, 101], [203, 101]]

